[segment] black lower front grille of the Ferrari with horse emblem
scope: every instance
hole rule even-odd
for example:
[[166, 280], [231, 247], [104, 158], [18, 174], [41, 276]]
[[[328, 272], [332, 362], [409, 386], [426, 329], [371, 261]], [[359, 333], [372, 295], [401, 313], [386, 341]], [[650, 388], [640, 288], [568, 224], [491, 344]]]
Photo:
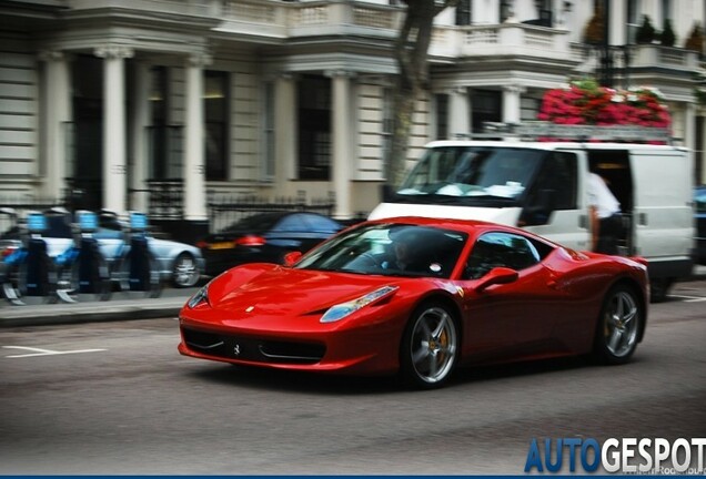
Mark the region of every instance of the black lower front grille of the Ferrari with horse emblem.
[[224, 359], [242, 359], [265, 364], [315, 364], [326, 347], [317, 343], [275, 342], [182, 328], [190, 349]]

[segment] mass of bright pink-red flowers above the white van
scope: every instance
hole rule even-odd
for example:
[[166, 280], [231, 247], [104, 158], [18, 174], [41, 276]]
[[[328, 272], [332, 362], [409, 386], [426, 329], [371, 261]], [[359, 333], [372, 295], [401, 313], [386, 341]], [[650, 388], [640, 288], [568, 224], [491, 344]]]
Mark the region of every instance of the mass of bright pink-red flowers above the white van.
[[572, 81], [545, 93], [538, 120], [576, 125], [635, 125], [667, 129], [672, 122], [664, 98], [648, 86], [614, 90], [594, 80]]

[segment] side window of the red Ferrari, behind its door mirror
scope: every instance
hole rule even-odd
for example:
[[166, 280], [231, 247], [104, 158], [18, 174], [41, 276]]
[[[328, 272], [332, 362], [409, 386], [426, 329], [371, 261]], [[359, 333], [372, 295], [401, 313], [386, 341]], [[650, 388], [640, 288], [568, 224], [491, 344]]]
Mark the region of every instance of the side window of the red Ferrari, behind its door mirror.
[[468, 256], [464, 279], [483, 277], [494, 267], [521, 271], [539, 263], [539, 253], [524, 236], [512, 233], [486, 233], [481, 236]]

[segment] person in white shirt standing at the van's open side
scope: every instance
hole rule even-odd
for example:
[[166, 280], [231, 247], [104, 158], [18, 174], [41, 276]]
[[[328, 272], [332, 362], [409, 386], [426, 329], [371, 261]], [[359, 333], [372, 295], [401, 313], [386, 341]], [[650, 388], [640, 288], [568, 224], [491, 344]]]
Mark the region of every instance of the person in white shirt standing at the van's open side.
[[621, 203], [605, 180], [596, 173], [588, 174], [588, 210], [591, 213], [592, 251], [618, 254], [617, 242], [623, 231]]

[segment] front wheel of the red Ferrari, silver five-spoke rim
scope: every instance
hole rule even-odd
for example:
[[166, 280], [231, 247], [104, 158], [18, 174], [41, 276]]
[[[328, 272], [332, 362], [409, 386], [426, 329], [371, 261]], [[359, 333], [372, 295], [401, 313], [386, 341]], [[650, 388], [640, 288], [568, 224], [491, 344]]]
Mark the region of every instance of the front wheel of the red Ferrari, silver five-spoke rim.
[[402, 378], [423, 389], [443, 386], [456, 366], [458, 337], [458, 326], [447, 306], [437, 302], [421, 305], [402, 336]]

